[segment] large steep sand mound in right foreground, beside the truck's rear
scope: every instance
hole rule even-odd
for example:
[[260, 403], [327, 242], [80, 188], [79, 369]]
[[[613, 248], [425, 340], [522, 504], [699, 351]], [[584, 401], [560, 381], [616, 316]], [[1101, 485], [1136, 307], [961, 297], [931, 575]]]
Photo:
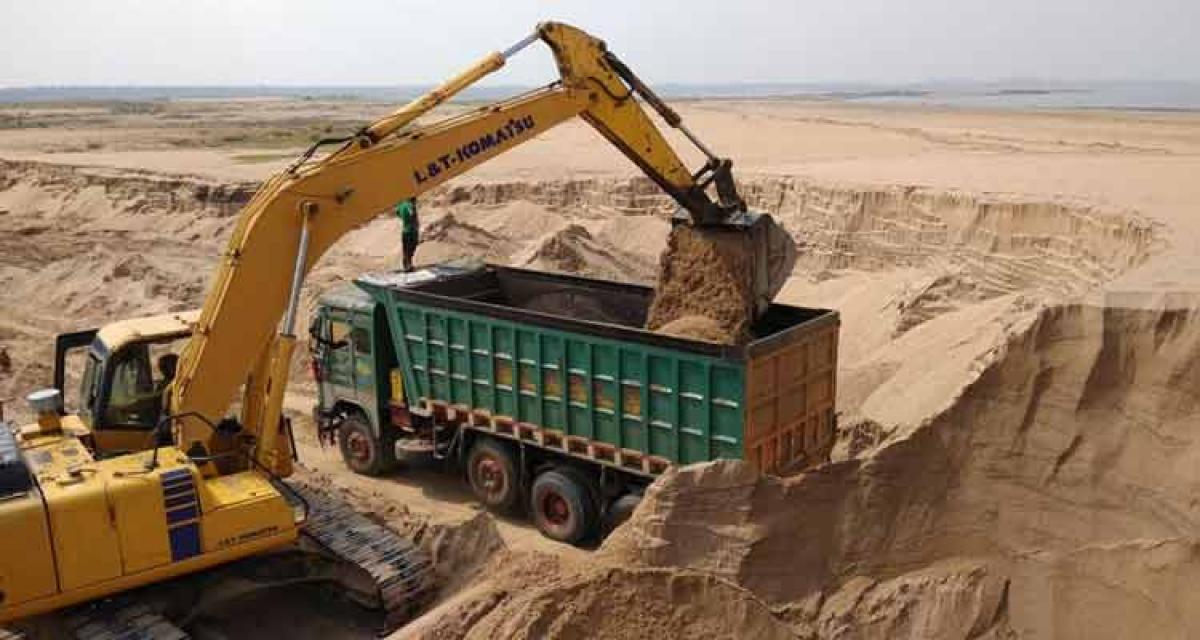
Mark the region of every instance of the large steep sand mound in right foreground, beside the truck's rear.
[[866, 457], [671, 472], [602, 552], [722, 576], [818, 638], [1194, 638], [1198, 363], [1200, 312], [1049, 307]]

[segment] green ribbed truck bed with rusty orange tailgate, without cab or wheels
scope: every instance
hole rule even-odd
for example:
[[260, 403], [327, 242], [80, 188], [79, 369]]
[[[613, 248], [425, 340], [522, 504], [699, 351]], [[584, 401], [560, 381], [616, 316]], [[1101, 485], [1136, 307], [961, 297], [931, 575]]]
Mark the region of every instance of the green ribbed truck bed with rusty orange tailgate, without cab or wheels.
[[828, 457], [838, 313], [772, 305], [743, 346], [642, 329], [652, 289], [508, 267], [356, 281], [385, 310], [410, 411], [641, 473]]

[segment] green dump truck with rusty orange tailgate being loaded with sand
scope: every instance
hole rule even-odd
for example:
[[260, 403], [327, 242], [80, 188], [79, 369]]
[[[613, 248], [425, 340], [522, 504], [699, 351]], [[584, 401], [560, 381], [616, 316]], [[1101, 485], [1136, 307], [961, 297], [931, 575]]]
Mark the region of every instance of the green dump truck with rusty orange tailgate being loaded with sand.
[[491, 509], [594, 537], [677, 465], [828, 459], [839, 316], [773, 304], [730, 346], [643, 329], [653, 289], [512, 267], [367, 274], [310, 322], [314, 419], [353, 471], [427, 455]]

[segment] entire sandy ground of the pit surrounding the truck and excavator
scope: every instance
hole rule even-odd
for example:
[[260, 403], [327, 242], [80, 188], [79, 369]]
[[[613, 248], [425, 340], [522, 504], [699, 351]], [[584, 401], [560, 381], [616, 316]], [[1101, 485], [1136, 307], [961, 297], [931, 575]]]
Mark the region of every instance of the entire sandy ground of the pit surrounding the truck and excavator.
[[[58, 331], [197, 305], [254, 181], [304, 136], [383, 110], [0, 109], [23, 122], [0, 128], [0, 399], [48, 382]], [[781, 299], [841, 313], [835, 460], [787, 479], [727, 463], [673, 473], [580, 551], [481, 515], [452, 474], [354, 477], [302, 437], [310, 478], [450, 540], [445, 600], [406, 633], [1200, 635], [1200, 115], [679, 110], [797, 238]], [[419, 261], [643, 282], [672, 209], [582, 124], [424, 203]], [[353, 233], [305, 304], [394, 264], [397, 239], [388, 219]], [[298, 381], [288, 406], [306, 412], [308, 393]]]

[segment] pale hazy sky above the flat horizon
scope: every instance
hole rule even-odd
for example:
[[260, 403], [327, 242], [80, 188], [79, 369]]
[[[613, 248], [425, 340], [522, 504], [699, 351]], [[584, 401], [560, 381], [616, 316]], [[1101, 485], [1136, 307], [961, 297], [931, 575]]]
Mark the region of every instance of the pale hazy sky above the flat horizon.
[[425, 84], [542, 19], [652, 83], [1200, 79], [1200, 0], [0, 0], [0, 86]]

